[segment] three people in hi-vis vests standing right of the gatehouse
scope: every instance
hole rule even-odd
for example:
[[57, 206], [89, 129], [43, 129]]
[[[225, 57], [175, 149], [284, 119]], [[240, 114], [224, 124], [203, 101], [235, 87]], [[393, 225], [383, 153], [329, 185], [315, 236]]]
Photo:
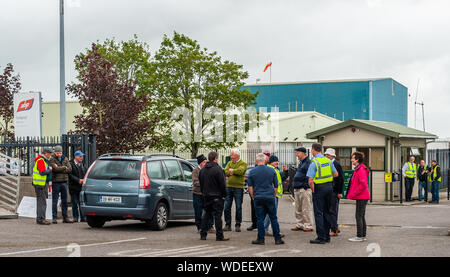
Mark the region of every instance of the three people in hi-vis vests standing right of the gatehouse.
[[428, 201], [428, 184], [431, 184], [430, 203], [439, 204], [439, 189], [441, 185], [441, 168], [436, 160], [431, 161], [431, 166], [427, 166], [421, 160], [419, 166], [415, 164], [415, 157], [409, 157], [409, 161], [402, 167], [402, 174], [405, 178], [405, 198], [406, 202], [412, 201], [412, 192], [416, 179], [419, 181], [419, 201]]

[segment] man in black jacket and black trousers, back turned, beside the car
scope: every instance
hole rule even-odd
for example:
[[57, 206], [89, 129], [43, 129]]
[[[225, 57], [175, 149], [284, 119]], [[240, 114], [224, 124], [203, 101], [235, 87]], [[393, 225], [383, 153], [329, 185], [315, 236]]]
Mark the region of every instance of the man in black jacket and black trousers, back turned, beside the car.
[[203, 208], [205, 209], [200, 231], [201, 240], [206, 240], [211, 217], [214, 217], [215, 221], [216, 240], [229, 240], [229, 238], [224, 238], [222, 229], [222, 213], [227, 192], [225, 171], [217, 164], [218, 157], [217, 152], [210, 152], [208, 154], [208, 162], [199, 173], [200, 189], [204, 197]]

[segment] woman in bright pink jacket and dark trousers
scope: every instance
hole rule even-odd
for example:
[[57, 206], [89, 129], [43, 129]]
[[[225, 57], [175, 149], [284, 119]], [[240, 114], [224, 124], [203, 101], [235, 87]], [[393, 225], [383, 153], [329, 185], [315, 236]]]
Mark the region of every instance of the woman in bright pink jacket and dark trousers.
[[366, 240], [366, 205], [370, 199], [368, 177], [369, 169], [362, 163], [364, 154], [355, 152], [352, 154], [352, 164], [355, 166], [355, 171], [350, 179], [350, 187], [347, 192], [347, 199], [356, 200], [356, 228], [357, 236], [349, 239], [350, 241], [365, 241]]

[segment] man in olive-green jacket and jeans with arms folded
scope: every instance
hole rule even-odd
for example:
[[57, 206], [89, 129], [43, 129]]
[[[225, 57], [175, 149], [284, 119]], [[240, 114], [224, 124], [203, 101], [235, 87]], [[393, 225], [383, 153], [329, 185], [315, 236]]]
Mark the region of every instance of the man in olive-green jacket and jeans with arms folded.
[[245, 171], [247, 163], [241, 160], [239, 149], [231, 150], [231, 161], [225, 167], [227, 176], [227, 197], [225, 198], [225, 228], [224, 231], [231, 231], [231, 206], [236, 205], [235, 231], [241, 231], [242, 222], [242, 201], [244, 197]]

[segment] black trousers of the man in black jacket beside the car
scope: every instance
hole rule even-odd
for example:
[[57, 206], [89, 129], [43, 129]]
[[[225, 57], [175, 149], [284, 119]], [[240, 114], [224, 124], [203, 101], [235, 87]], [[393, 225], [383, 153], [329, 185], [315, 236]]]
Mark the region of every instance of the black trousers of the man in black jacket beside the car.
[[202, 215], [202, 228], [200, 231], [201, 237], [205, 237], [210, 229], [210, 222], [214, 218], [214, 223], [216, 226], [216, 238], [223, 238], [222, 229], [222, 214], [224, 200], [221, 197], [205, 197], [203, 202], [204, 212]]

